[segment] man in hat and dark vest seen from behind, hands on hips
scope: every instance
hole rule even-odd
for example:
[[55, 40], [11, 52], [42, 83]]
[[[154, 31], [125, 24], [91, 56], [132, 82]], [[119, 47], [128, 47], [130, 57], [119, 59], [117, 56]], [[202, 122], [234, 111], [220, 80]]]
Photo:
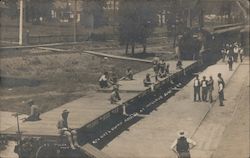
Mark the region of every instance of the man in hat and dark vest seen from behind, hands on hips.
[[178, 158], [191, 158], [190, 149], [196, 146], [196, 142], [185, 137], [184, 131], [178, 133], [177, 138], [171, 146], [171, 149], [177, 154]]

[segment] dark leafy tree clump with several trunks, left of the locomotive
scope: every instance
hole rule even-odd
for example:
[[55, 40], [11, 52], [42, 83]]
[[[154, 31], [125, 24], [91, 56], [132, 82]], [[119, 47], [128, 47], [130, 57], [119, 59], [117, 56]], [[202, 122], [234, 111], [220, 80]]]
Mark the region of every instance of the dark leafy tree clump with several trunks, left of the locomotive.
[[146, 52], [147, 38], [153, 33], [156, 26], [156, 10], [153, 1], [126, 0], [119, 3], [119, 40], [121, 45], [126, 45], [126, 54], [131, 45], [134, 54], [135, 44], [143, 45]]

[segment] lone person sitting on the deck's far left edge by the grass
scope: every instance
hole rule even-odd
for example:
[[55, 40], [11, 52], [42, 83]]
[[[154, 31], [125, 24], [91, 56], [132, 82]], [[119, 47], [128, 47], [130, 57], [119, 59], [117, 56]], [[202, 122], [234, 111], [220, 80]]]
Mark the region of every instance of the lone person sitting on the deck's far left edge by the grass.
[[30, 115], [24, 119], [24, 121], [38, 121], [40, 119], [40, 110], [37, 105], [34, 104], [34, 101], [31, 99], [27, 102], [30, 107]]

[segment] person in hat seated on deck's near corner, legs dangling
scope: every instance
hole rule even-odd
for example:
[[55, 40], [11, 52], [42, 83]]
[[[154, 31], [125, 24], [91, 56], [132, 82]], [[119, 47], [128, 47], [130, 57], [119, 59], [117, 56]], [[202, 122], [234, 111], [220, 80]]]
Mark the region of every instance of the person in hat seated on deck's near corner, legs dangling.
[[62, 112], [62, 118], [57, 123], [57, 128], [61, 135], [65, 135], [68, 138], [70, 147], [72, 149], [79, 148], [79, 144], [77, 142], [77, 132], [68, 127], [68, 116], [69, 110], [65, 109]]

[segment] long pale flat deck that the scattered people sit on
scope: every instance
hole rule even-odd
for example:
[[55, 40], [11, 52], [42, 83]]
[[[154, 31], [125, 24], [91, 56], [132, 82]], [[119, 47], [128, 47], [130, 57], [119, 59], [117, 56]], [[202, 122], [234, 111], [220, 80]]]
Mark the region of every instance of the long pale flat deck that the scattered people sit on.
[[[176, 61], [169, 61], [170, 71], [177, 73], [181, 70], [175, 70]], [[189, 68], [195, 64], [196, 61], [184, 61], [183, 68]], [[153, 73], [152, 69], [135, 74], [135, 80], [133, 81], [121, 81], [121, 91], [131, 90], [133, 93], [121, 92], [122, 103], [125, 103], [137, 95], [148, 89], [143, 86], [143, 78], [147, 73]], [[166, 79], [166, 78], [165, 78]], [[118, 104], [110, 104], [110, 93], [96, 92], [88, 94], [73, 102], [67, 103], [49, 112], [41, 115], [40, 121], [20, 123], [20, 129], [22, 135], [25, 136], [45, 136], [56, 137], [59, 136], [57, 130], [57, 121], [61, 117], [61, 112], [64, 109], [69, 109], [70, 114], [68, 118], [69, 127], [73, 129], [79, 129], [87, 126], [89, 123], [98, 119], [105, 113], [117, 108]], [[15, 135], [17, 131], [16, 125], [0, 131], [0, 134]]]

